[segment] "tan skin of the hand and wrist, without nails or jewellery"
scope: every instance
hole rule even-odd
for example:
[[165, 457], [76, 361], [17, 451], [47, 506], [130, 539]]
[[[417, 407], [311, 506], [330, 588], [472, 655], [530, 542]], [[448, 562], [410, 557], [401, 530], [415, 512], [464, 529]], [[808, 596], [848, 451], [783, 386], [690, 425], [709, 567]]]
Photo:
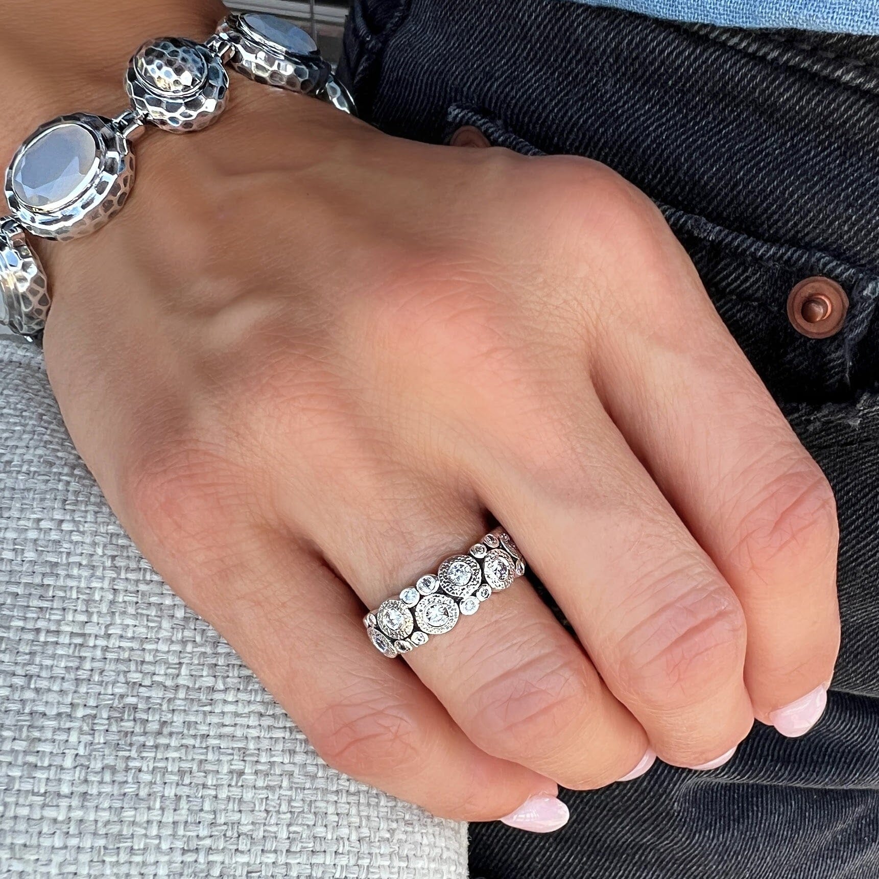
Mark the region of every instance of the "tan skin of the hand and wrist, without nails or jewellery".
[[[69, 4], [0, 0], [0, 160], [117, 112], [142, 40], [222, 16], [126, 3], [80, 0], [70, 46]], [[704, 764], [831, 678], [832, 491], [613, 171], [397, 140], [238, 76], [215, 127], [137, 155], [119, 217], [37, 245], [49, 379], [138, 547], [332, 766], [494, 819], [649, 745]], [[493, 519], [576, 639], [519, 581], [381, 657], [365, 609]]]

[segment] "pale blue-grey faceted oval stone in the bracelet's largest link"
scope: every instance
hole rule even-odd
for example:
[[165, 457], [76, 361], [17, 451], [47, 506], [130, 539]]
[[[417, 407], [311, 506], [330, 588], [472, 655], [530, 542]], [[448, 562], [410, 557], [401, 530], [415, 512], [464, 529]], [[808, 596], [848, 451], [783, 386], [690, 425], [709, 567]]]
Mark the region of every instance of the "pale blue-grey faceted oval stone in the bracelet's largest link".
[[12, 166], [12, 192], [27, 207], [48, 212], [88, 189], [100, 168], [95, 135], [62, 122], [28, 143]]

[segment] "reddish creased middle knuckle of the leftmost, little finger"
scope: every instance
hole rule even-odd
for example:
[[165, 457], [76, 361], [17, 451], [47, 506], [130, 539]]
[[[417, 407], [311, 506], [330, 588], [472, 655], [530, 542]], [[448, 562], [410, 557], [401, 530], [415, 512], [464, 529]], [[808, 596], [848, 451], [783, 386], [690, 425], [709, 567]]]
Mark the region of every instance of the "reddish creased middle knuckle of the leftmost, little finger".
[[383, 694], [333, 704], [309, 729], [311, 745], [330, 766], [360, 778], [417, 774], [425, 757], [422, 738], [411, 708]]

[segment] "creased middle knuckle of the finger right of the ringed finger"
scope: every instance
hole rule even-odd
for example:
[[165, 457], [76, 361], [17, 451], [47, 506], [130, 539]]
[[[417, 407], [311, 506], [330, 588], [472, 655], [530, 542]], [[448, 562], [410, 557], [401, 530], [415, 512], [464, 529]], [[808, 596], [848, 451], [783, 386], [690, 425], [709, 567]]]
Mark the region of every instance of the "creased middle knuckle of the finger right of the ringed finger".
[[695, 585], [629, 628], [613, 650], [618, 695], [657, 711], [716, 693], [741, 676], [745, 660], [745, 615], [732, 592], [703, 571], [669, 578]]

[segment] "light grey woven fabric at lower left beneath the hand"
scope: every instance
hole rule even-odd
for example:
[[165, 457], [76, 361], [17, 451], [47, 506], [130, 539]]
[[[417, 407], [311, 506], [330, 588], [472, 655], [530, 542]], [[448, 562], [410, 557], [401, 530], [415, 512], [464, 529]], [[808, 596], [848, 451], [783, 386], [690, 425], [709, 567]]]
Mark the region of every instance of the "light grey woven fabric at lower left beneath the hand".
[[0, 338], [0, 877], [466, 875], [464, 825], [325, 766], [163, 584]]

